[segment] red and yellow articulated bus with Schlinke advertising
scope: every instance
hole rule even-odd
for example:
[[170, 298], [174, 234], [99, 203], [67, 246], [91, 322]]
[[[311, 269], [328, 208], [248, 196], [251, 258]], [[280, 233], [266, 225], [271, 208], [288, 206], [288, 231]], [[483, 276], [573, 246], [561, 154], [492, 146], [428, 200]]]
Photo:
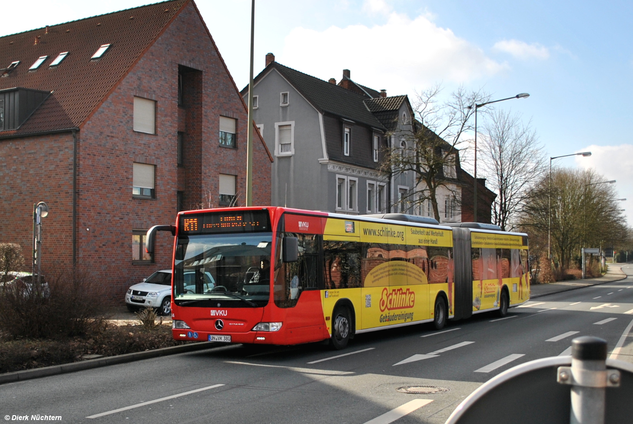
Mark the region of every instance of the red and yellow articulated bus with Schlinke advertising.
[[[405, 214], [282, 207], [179, 212], [173, 337], [233, 343], [329, 341], [508, 308], [530, 298], [527, 235]], [[187, 278], [185, 279], [185, 275]], [[192, 277], [194, 276], [194, 277]]]

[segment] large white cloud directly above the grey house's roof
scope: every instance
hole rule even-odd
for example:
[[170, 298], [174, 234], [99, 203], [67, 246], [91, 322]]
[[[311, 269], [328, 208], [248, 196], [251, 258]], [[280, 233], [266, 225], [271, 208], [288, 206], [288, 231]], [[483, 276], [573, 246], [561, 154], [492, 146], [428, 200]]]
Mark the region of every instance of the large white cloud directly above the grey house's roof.
[[373, 27], [294, 28], [278, 61], [324, 80], [339, 80], [349, 69], [354, 81], [385, 88], [388, 95], [412, 94], [436, 82], [468, 83], [507, 67], [427, 15], [411, 20], [398, 13]]

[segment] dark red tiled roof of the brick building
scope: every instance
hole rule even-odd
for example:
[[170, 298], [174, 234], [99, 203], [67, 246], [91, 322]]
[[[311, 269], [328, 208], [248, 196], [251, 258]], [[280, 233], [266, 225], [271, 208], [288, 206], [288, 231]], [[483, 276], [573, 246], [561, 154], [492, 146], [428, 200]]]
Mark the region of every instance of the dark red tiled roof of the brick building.
[[[23, 87], [53, 92], [18, 130], [0, 136], [81, 128], [117, 83], [191, 0], [172, 0], [0, 37], [0, 90]], [[100, 59], [91, 56], [111, 44]], [[68, 56], [53, 68], [60, 54]], [[28, 68], [48, 56], [35, 71]]]

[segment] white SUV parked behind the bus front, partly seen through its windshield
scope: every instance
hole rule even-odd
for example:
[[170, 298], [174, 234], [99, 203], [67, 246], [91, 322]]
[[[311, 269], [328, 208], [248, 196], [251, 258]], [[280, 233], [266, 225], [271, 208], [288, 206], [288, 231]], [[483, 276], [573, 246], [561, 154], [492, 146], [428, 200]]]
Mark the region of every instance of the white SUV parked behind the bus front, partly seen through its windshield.
[[[196, 291], [196, 272], [185, 271], [185, 289], [192, 293]], [[215, 280], [209, 272], [204, 273], [204, 291], [215, 287]], [[161, 269], [143, 282], [131, 286], [125, 293], [125, 305], [130, 312], [140, 308], [155, 308], [161, 315], [172, 313], [172, 270]]]

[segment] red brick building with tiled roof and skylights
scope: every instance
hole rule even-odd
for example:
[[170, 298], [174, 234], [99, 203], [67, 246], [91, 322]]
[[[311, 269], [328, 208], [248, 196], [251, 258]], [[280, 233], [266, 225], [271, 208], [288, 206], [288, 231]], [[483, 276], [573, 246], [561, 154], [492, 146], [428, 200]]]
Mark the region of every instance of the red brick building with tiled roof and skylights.
[[[248, 111], [192, 0], [0, 37], [0, 68], [0, 241], [27, 262], [37, 202], [42, 269], [90, 267], [113, 295], [168, 267], [150, 226], [244, 204]], [[272, 160], [256, 131], [256, 205]]]

